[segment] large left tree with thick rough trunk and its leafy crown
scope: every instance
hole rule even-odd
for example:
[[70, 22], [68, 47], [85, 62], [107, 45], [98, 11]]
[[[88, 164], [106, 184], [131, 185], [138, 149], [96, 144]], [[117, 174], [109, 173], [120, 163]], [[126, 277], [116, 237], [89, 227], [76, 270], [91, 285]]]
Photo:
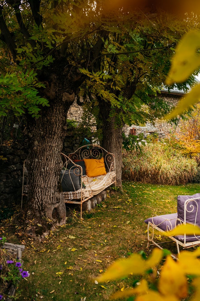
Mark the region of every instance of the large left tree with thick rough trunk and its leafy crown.
[[122, 11], [107, 10], [106, 3], [0, 2], [1, 115], [9, 110], [26, 115], [29, 190], [25, 207], [36, 225], [65, 223], [59, 173], [67, 111], [86, 78], [80, 68], [99, 68], [109, 26], [123, 16]]

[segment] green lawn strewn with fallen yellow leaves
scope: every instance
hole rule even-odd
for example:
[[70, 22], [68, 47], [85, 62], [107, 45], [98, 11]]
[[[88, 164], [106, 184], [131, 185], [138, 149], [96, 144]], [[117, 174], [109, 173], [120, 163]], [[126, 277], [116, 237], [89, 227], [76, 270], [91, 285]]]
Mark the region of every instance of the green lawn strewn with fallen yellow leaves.
[[95, 284], [94, 278], [118, 258], [141, 250], [150, 254], [153, 247], [146, 248], [144, 220], [176, 212], [177, 195], [200, 192], [200, 185], [123, 182], [123, 189], [124, 194], [112, 194], [90, 213], [84, 212], [82, 221], [79, 213], [71, 211], [67, 224], [42, 243], [23, 237], [20, 226], [1, 226], [1, 236], [8, 242], [25, 244], [22, 259], [30, 276], [19, 284], [19, 300], [80, 301], [86, 297], [85, 301], [100, 301], [132, 285], [136, 278], [103, 284]]

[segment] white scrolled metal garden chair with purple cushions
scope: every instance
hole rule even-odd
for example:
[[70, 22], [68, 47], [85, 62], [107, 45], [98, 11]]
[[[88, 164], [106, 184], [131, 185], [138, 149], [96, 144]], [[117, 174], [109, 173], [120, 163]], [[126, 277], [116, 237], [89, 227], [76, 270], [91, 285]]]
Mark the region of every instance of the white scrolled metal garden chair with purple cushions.
[[[177, 213], [166, 214], [166, 215], [155, 215], [145, 220], [148, 224], [148, 244], [152, 242], [160, 249], [163, 249], [160, 244], [154, 240], [154, 230], [160, 231], [161, 233], [166, 233], [172, 229], [178, 227], [181, 224], [193, 224], [200, 227], [200, 194], [189, 195], [179, 195], [177, 197]], [[150, 232], [152, 231], [152, 234]], [[190, 248], [193, 246], [200, 245], [200, 236], [193, 235], [176, 235], [169, 236], [170, 241], [175, 241], [177, 246], [178, 255], [180, 254], [179, 245], [183, 248]], [[173, 258], [177, 259], [176, 256], [171, 255]]]

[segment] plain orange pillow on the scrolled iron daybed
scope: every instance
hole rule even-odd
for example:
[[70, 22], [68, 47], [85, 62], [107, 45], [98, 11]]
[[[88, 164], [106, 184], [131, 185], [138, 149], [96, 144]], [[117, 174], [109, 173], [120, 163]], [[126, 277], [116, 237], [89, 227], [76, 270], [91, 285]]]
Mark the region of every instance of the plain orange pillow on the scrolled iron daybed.
[[85, 171], [88, 177], [98, 177], [106, 175], [106, 168], [103, 157], [101, 159], [84, 159]]

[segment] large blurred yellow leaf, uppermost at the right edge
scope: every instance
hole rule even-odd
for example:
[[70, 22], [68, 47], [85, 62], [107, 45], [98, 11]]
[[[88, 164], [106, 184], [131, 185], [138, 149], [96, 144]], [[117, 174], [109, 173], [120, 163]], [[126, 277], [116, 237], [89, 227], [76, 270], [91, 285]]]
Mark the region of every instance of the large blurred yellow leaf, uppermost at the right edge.
[[200, 31], [193, 30], [181, 39], [172, 58], [172, 67], [166, 79], [166, 84], [184, 82], [200, 66]]

